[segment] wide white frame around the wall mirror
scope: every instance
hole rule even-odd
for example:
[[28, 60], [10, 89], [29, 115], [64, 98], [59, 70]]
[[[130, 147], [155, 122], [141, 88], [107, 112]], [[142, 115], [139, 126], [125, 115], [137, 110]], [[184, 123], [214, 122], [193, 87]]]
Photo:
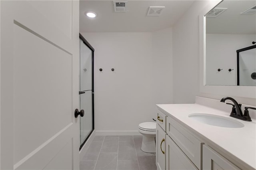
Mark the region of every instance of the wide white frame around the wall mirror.
[[[222, 0], [209, 2], [209, 4], [200, 12], [199, 15], [199, 76], [200, 76], [200, 93], [214, 95], [237, 96], [246, 98], [256, 98], [255, 86], [223, 86], [223, 85], [205, 85], [205, 15], [215, 8]], [[236, 56], [235, 56], [236, 57]]]

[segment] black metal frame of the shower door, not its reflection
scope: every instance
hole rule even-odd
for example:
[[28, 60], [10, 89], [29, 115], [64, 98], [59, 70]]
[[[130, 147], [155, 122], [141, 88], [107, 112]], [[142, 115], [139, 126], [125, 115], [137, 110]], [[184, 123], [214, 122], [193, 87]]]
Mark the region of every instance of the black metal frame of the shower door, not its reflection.
[[[80, 40], [82, 40], [84, 42], [84, 44], [90, 50], [92, 50], [92, 131], [89, 133], [89, 135], [84, 140], [84, 142], [80, 145], [80, 148], [79, 148], [79, 151], [80, 151], [82, 149], [82, 147], [84, 146], [85, 142], [88, 140], [88, 138], [91, 136], [92, 132], [94, 131], [94, 48], [92, 47], [92, 45], [90, 45], [90, 43], [80, 33], [79, 33], [79, 38], [80, 38]], [[80, 121], [80, 123], [81, 123], [81, 121]], [[80, 124], [80, 136], [81, 136], [81, 124]]]

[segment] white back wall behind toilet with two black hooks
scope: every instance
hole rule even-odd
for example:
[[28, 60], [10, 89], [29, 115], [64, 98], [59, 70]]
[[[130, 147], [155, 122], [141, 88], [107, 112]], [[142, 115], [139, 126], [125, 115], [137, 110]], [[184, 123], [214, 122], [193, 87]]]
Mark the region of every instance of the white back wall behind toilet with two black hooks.
[[82, 35], [95, 49], [96, 131], [138, 131], [156, 118], [155, 104], [172, 103], [170, 29]]

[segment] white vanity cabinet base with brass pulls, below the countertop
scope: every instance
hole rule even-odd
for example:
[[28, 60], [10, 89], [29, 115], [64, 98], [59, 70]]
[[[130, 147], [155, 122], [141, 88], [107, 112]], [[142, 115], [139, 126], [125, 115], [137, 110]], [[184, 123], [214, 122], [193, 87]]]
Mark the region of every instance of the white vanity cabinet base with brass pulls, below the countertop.
[[158, 118], [163, 120], [156, 125], [158, 170], [240, 170], [186, 125], [166, 115], [158, 110]]

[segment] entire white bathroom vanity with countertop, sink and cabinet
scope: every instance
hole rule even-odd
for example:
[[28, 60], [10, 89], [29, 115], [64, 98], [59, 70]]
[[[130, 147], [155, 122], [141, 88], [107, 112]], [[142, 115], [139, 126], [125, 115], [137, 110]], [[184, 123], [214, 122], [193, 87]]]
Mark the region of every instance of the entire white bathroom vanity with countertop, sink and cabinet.
[[231, 107], [202, 97], [196, 97], [195, 104], [157, 107], [158, 170], [256, 169], [255, 119], [247, 122], [229, 117], [226, 109], [231, 111]]

